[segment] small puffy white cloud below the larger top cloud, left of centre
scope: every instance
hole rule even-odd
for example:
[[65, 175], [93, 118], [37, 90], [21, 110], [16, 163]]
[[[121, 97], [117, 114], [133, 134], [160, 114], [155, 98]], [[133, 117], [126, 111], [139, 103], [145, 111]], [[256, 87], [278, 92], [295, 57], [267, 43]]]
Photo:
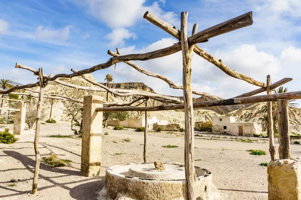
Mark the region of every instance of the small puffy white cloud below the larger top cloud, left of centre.
[[114, 28], [112, 32], [108, 33], [105, 37], [110, 40], [109, 44], [113, 46], [117, 44], [122, 45], [124, 44], [124, 39], [136, 39], [138, 36], [125, 28], [118, 27]]

